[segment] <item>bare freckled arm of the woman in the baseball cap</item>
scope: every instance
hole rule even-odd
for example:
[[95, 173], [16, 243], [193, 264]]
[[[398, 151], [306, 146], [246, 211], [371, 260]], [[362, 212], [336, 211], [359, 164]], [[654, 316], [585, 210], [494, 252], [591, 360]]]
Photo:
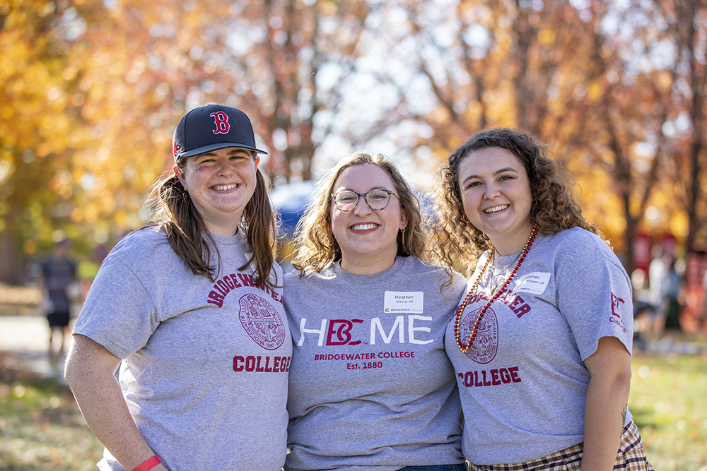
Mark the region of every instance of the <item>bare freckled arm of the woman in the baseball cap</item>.
[[[119, 364], [120, 359], [103, 345], [74, 335], [64, 377], [88, 428], [126, 470], [132, 470], [155, 453], [132, 419], [113, 376]], [[157, 465], [153, 470], [166, 468]]]

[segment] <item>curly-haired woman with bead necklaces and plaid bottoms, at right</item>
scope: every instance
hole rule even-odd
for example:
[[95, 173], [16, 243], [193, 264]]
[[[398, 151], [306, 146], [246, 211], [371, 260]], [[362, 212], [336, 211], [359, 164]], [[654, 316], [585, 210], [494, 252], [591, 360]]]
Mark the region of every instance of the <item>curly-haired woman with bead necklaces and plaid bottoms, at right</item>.
[[652, 470], [626, 405], [629, 276], [568, 175], [534, 136], [491, 129], [440, 176], [437, 252], [474, 267], [445, 334], [469, 469]]

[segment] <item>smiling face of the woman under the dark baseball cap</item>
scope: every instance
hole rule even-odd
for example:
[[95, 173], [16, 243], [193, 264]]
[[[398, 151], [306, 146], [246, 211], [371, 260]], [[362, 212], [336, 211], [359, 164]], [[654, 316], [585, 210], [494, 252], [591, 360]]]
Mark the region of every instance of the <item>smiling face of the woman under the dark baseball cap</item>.
[[260, 157], [251, 150], [225, 148], [187, 158], [174, 171], [204, 219], [206, 229], [231, 236], [255, 191]]

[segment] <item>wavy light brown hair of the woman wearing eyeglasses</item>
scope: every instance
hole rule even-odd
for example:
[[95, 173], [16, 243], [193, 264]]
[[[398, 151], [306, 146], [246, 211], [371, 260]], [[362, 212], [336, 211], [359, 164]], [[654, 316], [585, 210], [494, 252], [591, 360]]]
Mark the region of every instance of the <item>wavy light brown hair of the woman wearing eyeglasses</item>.
[[300, 270], [300, 276], [304, 275], [307, 268], [313, 268], [318, 272], [341, 258], [341, 247], [332, 232], [332, 189], [344, 169], [366, 164], [375, 165], [390, 175], [400, 207], [408, 215], [404, 237], [403, 232], [398, 232], [397, 235], [397, 255], [426, 259], [427, 235], [422, 225], [420, 205], [407, 181], [385, 155], [354, 153], [339, 161], [336, 167], [320, 179], [315, 201], [307, 207], [305, 215], [298, 223], [296, 255], [292, 265]]

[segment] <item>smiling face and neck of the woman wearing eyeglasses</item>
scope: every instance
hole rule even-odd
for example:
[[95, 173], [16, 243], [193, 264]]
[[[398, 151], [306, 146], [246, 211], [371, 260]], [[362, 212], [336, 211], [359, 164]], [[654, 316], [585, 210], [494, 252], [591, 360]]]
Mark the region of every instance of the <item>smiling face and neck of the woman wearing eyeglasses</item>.
[[[366, 193], [373, 189], [385, 189], [397, 195], [392, 178], [378, 165], [354, 165], [339, 174], [332, 193], [342, 190]], [[366, 198], [360, 197], [353, 210], [339, 210], [332, 200], [329, 211], [332, 233], [341, 247], [341, 268], [366, 275], [380, 273], [395, 263], [397, 234], [408, 222], [397, 196], [391, 196], [388, 205], [381, 210], [370, 209]]]

